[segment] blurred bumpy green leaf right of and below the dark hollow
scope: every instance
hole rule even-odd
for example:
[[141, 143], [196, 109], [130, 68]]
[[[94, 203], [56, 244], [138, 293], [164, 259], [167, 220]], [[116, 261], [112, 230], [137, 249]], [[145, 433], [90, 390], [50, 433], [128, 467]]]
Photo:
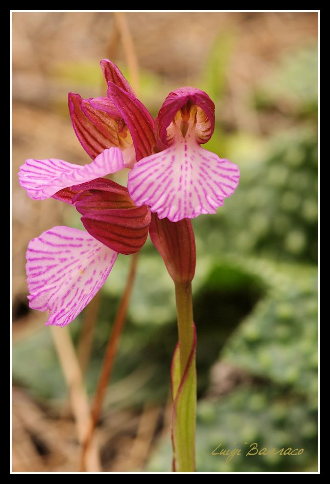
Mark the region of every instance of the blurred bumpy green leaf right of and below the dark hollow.
[[267, 273], [267, 296], [236, 329], [221, 353], [221, 360], [289, 385], [317, 399], [318, 303], [317, 270], [300, 266], [274, 266]]

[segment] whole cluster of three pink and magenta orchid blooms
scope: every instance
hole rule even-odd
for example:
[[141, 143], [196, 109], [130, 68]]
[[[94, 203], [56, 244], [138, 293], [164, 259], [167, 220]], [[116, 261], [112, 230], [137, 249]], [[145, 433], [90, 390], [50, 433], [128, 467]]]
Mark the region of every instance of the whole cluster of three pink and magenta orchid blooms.
[[[105, 59], [101, 67], [108, 97], [69, 93], [75, 133], [93, 162], [29, 159], [20, 167], [20, 185], [32, 199], [74, 205], [88, 232], [54, 227], [29, 244], [29, 305], [50, 310], [46, 324], [73, 321], [104, 284], [117, 254], [142, 248], [150, 211], [172, 222], [215, 213], [239, 181], [237, 165], [200, 147], [214, 130], [206, 93], [192, 87], [171, 93], [156, 129], [116, 65]], [[125, 167], [132, 168], [128, 190], [101, 178]]]

